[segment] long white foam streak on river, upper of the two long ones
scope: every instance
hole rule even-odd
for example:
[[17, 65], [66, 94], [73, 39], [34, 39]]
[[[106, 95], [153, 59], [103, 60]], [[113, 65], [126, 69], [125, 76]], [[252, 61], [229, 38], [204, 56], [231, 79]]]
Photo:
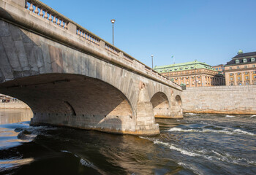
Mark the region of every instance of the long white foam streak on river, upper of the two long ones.
[[249, 133], [247, 131], [242, 131], [241, 129], [236, 129], [234, 131], [227, 131], [227, 130], [212, 130], [212, 129], [203, 129], [203, 130], [196, 130], [196, 129], [181, 129], [181, 128], [170, 128], [167, 130], [169, 132], [184, 132], [184, 133], [224, 133], [227, 135], [234, 135], [234, 134], [240, 134], [240, 135], [249, 135], [249, 136], [256, 136], [254, 133]]

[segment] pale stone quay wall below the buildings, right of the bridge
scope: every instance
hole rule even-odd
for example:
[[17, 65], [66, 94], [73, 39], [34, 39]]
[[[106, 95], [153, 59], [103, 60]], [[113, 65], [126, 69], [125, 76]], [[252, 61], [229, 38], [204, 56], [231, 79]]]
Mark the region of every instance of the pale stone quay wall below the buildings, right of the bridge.
[[183, 112], [256, 114], [256, 85], [187, 88]]

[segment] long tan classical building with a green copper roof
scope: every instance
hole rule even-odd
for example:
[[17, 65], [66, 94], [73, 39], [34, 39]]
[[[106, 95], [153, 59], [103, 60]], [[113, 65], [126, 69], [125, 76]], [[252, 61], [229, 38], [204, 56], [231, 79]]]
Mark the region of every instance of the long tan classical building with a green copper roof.
[[199, 61], [155, 66], [154, 70], [187, 87], [225, 85], [225, 77], [220, 71]]

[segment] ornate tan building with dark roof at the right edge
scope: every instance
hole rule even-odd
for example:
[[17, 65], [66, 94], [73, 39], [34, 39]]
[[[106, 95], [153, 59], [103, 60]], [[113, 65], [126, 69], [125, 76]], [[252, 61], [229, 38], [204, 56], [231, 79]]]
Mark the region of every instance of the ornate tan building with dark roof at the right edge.
[[256, 85], [256, 52], [243, 53], [232, 58], [225, 65], [226, 85]]

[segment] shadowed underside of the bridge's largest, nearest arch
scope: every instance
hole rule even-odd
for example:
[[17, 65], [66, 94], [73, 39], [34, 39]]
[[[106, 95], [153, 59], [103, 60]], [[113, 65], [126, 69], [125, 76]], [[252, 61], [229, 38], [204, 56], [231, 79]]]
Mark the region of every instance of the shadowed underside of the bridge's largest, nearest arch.
[[28, 104], [34, 112], [31, 119], [34, 125], [135, 132], [135, 115], [127, 98], [99, 79], [74, 74], [42, 74], [1, 83], [0, 93]]

